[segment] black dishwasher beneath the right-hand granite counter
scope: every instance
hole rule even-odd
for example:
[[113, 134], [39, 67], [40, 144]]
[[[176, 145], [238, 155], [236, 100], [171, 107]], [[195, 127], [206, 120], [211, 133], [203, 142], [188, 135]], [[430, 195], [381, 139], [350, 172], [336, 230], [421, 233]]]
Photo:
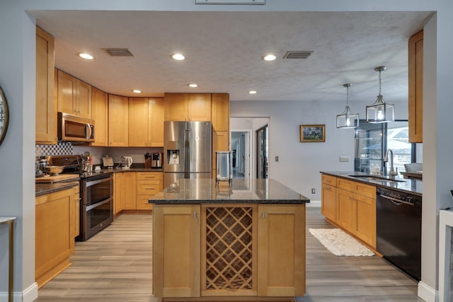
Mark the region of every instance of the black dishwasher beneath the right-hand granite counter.
[[376, 250], [417, 281], [421, 279], [422, 197], [377, 188]]

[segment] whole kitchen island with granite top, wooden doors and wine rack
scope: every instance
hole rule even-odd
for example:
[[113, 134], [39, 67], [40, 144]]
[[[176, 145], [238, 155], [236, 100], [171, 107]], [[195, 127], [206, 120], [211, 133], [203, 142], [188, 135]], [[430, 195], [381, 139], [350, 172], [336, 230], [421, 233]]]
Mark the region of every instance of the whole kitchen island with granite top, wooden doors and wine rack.
[[305, 204], [275, 180], [179, 180], [154, 195], [153, 293], [164, 301], [305, 294]]

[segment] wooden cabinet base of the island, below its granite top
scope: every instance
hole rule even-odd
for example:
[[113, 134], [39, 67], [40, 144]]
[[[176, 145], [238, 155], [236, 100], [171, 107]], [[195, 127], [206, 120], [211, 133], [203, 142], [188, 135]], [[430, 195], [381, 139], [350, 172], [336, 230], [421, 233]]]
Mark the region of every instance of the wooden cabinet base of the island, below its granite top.
[[156, 204], [153, 213], [154, 296], [305, 294], [305, 204]]

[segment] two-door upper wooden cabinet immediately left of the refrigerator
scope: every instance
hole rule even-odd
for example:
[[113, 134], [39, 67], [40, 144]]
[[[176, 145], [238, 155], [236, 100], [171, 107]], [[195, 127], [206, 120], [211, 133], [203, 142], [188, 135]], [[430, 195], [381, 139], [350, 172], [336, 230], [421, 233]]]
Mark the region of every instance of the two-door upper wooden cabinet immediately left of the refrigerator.
[[129, 146], [164, 146], [164, 98], [129, 98]]

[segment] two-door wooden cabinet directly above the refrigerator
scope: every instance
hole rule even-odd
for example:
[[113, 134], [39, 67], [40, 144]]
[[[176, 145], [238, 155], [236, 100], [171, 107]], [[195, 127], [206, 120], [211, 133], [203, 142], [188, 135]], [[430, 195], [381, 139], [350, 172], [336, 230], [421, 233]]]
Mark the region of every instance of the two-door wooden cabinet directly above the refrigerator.
[[166, 121], [211, 121], [210, 93], [165, 93]]

